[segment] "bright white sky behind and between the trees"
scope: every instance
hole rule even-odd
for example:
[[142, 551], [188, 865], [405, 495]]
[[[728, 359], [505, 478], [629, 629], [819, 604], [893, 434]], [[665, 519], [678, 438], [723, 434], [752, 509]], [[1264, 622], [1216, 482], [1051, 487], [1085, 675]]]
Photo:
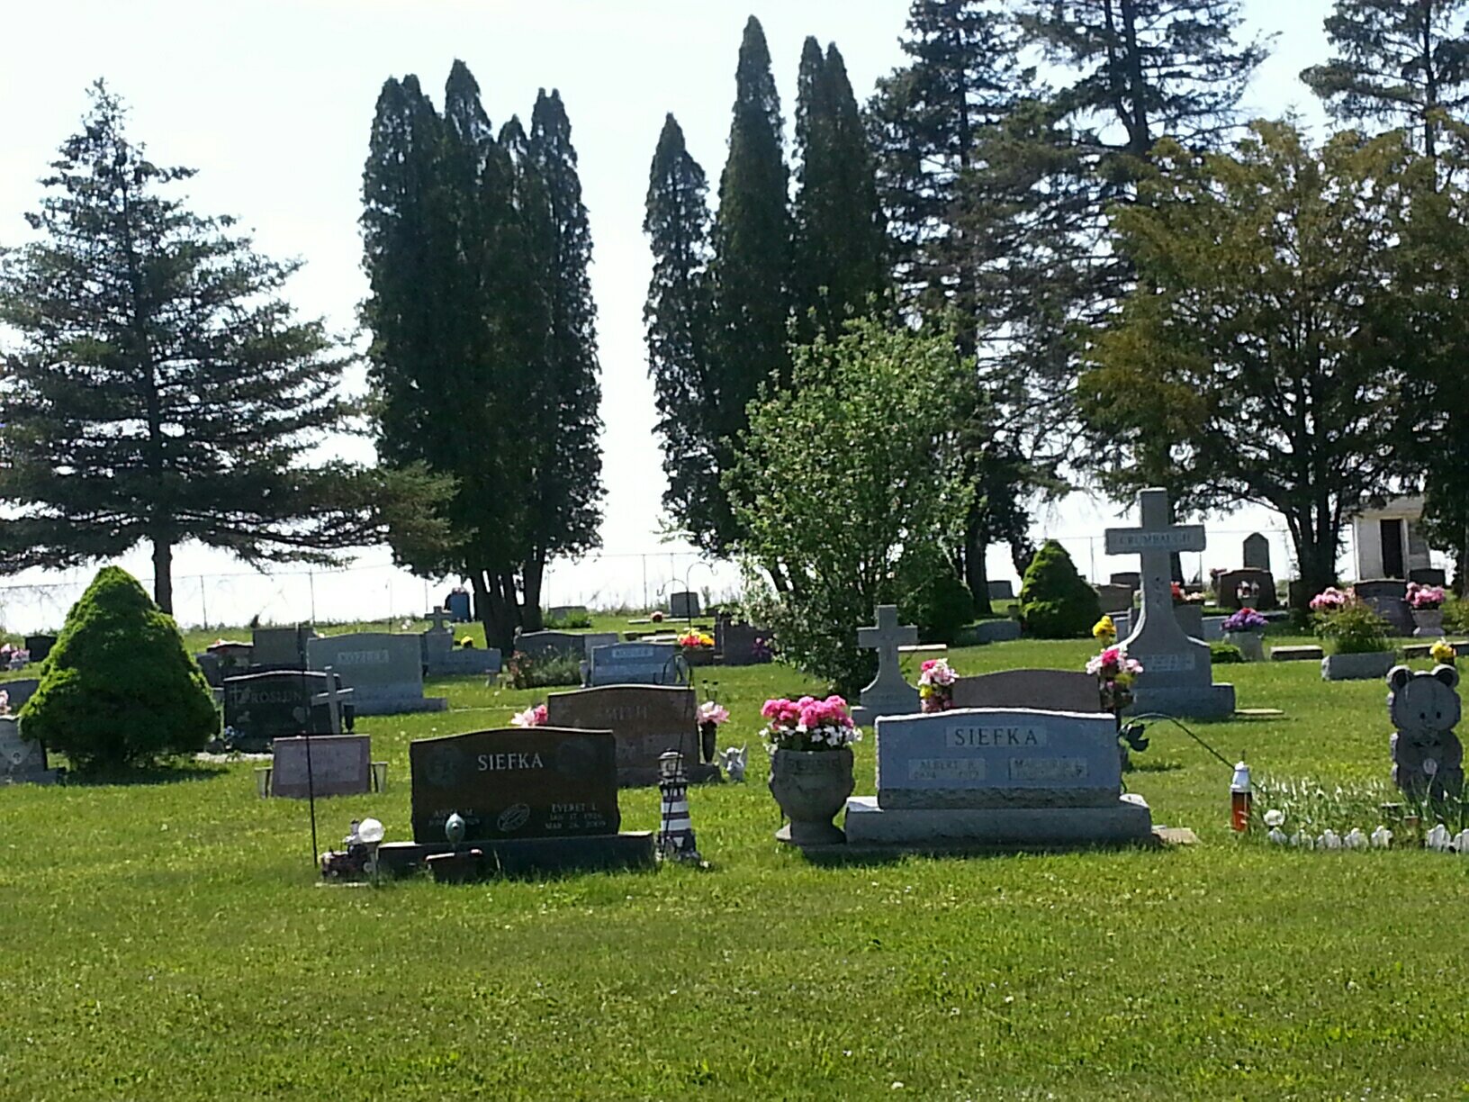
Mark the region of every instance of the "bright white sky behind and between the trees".
[[[442, 103], [444, 79], [460, 57], [479, 79], [497, 125], [511, 113], [527, 119], [536, 88], [560, 88], [595, 242], [592, 288], [607, 425], [602, 536], [608, 552], [626, 557], [552, 572], [549, 599], [638, 599], [642, 563], [636, 552], [658, 552], [648, 567], [654, 594], [670, 573], [670, 547], [660, 545], [657, 535], [663, 475], [642, 342], [651, 266], [642, 235], [643, 195], [664, 113], [677, 115], [712, 192], [724, 162], [740, 31], [752, 10], [765, 28], [789, 129], [804, 38], [834, 40], [858, 97], [865, 98], [876, 78], [902, 60], [898, 37], [906, 9], [906, 0], [16, 1], [6, 10], [0, 38], [0, 244], [25, 237], [22, 213], [35, 207], [37, 179], [76, 129], [87, 87], [104, 76], [131, 106], [131, 134], [147, 143], [154, 160], [198, 169], [187, 185], [195, 210], [237, 215], [254, 228], [263, 251], [304, 259], [289, 294], [304, 314], [323, 316], [350, 335], [355, 304], [366, 294], [358, 192], [383, 79], [417, 73]], [[1296, 73], [1325, 56], [1321, 22], [1328, 9], [1328, 0], [1244, 0], [1252, 26], [1279, 34], [1250, 88], [1252, 113], [1279, 116], [1296, 109], [1306, 119], [1322, 118]], [[1068, 542], [1078, 566], [1091, 573], [1086, 536], [1099, 536], [1103, 517], [1111, 516], [1114, 510], [1074, 495], [1040, 519], [1037, 535], [1081, 536]], [[1237, 566], [1244, 533], [1278, 527], [1277, 517], [1257, 510], [1212, 523], [1216, 545], [1205, 560]], [[1288, 561], [1285, 545], [1275, 536], [1272, 542], [1279, 572]], [[385, 564], [388, 557], [379, 550], [361, 561]], [[674, 573], [683, 576], [690, 563], [692, 557], [679, 558]], [[145, 554], [125, 564], [140, 576], [151, 573]], [[244, 569], [204, 548], [182, 548], [176, 558], [181, 579]], [[1011, 576], [1008, 552], [997, 548], [992, 569]], [[1103, 563], [1097, 548], [1094, 576], [1111, 569], [1136, 566]], [[87, 576], [26, 576], [29, 583], [68, 586], [50, 599], [10, 591], [0, 617], [22, 630], [56, 624], [66, 598], [75, 597], [75, 583]], [[319, 589], [317, 599], [326, 601], [319, 613], [420, 611], [422, 583], [383, 567], [372, 575], [372, 592], [364, 595], [363, 577], [335, 599]], [[720, 573], [721, 580], [727, 577]], [[701, 567], [690, 580], [702, 588], [708, 579]], [[200, 619], [191, 601], [201, 588], [213, 602], [210, 620], [257, 611], [289, 620], [307, 611], [300, 586], [250, 577], [192, 585], [188, 597], [188, 583], [179, 582], [178, 611], [185, 620]], [[376, 595], [383, 591], [386, 598]]]

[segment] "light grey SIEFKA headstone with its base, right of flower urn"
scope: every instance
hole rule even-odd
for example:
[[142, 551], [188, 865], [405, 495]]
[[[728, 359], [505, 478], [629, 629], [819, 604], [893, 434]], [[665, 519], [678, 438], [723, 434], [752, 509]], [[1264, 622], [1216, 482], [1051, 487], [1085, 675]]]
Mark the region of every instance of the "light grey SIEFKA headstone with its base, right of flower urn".
[[1121, 789], [1116, 724], [1106, 714], [884, 716], [877, 795], [848, 801], [846, 839], [899, 849], [1147, 839], [1147, 804]]

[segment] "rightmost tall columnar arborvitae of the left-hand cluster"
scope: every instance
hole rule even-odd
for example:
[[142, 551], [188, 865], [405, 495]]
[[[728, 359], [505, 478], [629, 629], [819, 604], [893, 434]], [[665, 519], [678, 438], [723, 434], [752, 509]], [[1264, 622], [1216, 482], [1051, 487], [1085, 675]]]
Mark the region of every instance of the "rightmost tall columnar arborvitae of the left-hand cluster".
[[[545, 185], [549, 206], [548, 303], [549, 360], [535, 411], [546, 454], [536, 469], [530, 510], [530, 542], [521, 567], [524, 626], [541, 626], [541, 580], [557, 555], [579, 555], [598, 547], [602, 514], [602, 398], [596, 361], [596, 304], [588, 267], [592, 231], [582, 203], [582, 181], [571, 145], [571, 122], [561, 93], [545, 90], [530, 116], [530, 162]], [[544, 435], [542, 435], [544, 433]]]

